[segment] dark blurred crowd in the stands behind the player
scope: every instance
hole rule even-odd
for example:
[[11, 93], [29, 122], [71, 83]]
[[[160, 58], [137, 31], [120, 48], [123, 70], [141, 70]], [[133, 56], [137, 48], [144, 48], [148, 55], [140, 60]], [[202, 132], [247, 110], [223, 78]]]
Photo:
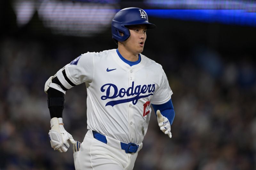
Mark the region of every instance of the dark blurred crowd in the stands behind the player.
[[[44, 83], [80, 54], [74, 56], [67, 41], [51, 47], [44, 41], [8, 37], [0, 44], [0, 169], [74, 169], [72, 149], [60, 153], [51, 148]], [[105, 48], [98, 47], [101, 50]], [[252, 56], [226, 60], [217, 51], [198, 47], [183, 58], [164, 52], [148, 57], [167, 74], [176, 115], [170, 139], [152, 111], [134, 170], [255, 169]], [[63, 122], [82, 142], [87, 131], [84, 84], [66, 93]]]

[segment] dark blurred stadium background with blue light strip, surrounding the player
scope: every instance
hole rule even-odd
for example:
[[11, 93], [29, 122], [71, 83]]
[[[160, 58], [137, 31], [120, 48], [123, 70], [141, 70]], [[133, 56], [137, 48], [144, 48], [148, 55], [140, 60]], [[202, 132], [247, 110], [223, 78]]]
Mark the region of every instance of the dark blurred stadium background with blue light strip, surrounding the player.
[[[174, 92], [172, 139], [154, 112], [134, 170], [252, 170], [256, 150], [256, 3], [242, 0], [0, 1], [0, 169], [74, 169], [53, 151], [44, 83], [82, 53], [117, 48], [111, 19], [140, 7], [157, 28], [143, 54]], [[66, 130], [86, 133], [85, 85], [66, 93]]]

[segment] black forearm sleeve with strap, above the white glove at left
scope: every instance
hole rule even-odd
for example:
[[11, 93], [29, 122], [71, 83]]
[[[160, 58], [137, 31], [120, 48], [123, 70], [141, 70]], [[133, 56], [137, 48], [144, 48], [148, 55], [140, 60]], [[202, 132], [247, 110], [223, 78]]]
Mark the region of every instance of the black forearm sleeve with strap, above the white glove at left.
[[48, 89], [47, 93], [47, 102], [51, 118], [62, 117], [62, 112], [65, 107], [65, 94], [51, 87]]

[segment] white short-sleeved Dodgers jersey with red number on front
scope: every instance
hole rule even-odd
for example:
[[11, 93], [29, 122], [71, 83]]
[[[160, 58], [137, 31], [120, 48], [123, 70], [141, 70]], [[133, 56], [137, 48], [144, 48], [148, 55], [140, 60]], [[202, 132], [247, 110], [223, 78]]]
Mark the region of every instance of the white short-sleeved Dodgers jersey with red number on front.
[[141, 55], [140, 63], [130, 66], [116, 49], [87, 52], [57, 72], [67, 89], [86, 84], [87, 129], [95, 130], [124, 143], [140, 144], [148, 129], [150, 104], [171, 99], [172, 90], [155, 61]]

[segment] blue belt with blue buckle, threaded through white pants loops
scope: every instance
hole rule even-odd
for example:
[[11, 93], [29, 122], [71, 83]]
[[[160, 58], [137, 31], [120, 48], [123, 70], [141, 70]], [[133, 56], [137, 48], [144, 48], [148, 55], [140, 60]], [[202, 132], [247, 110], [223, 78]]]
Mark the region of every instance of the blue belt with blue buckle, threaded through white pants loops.
[[[92, 130], [92, 134], [95, 139], [107, 144], [108, 141], [104, 135], [102, 135], [94, 130]], [[125, 153], [136, 153], [139, 149], [139, 145], [134, 144], [134, 143], [125, 144], [123, 142], [120, 142], [120, 144], [121, 144], [121, 149], [123, 149], [125, 151]]]

